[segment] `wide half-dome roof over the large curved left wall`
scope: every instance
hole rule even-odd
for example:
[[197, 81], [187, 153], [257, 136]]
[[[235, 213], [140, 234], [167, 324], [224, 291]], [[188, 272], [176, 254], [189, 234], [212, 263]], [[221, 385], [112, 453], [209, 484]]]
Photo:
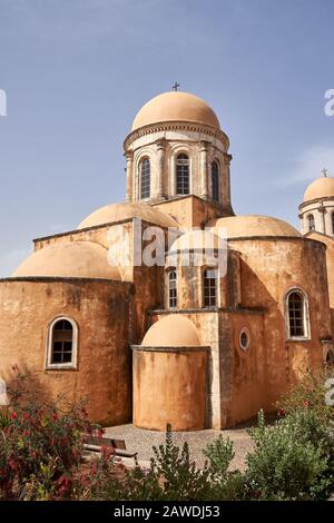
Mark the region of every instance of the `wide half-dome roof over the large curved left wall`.
[[107, 249], [92, 241], [69, 241], [32, 253], [12, 274], [17, 277], [104, 278], [121, 280], [107, 262]]

